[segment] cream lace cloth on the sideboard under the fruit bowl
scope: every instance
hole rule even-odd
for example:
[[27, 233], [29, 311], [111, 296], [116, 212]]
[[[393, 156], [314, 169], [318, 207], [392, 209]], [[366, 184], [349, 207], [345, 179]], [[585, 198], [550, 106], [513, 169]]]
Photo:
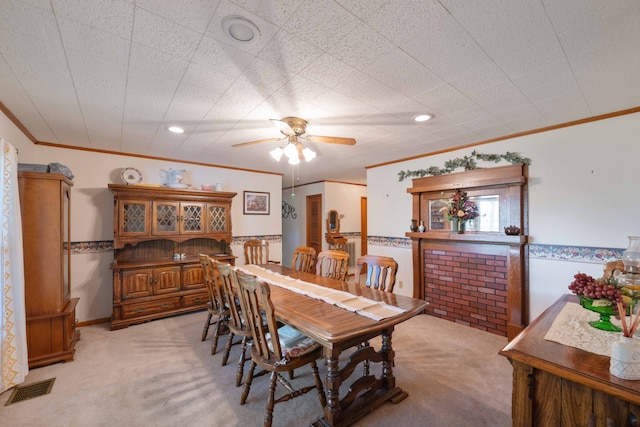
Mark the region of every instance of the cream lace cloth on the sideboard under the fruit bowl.
[[[599, 318], [598, 313], [569, 302], [553, 321], [544, 339], [602, 356], [611, 356], [611, 344], [620, 338], [622, 332], [602, 331], [589, 325], [590, 321]], [[611, 323], [621, 326], [614, 316], [611, 316]]]

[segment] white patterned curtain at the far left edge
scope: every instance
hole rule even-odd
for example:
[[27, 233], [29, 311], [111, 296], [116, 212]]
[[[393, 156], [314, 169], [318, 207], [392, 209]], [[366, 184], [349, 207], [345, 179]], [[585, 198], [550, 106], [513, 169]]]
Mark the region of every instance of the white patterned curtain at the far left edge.
[[15, 147], [0, 138], [2, 161], [2, 239], [0, 241], [0, 393], [24, 382], [29, 373], [27, 321], [24, 305], [22, 221], [18, 198], [18, 156]]

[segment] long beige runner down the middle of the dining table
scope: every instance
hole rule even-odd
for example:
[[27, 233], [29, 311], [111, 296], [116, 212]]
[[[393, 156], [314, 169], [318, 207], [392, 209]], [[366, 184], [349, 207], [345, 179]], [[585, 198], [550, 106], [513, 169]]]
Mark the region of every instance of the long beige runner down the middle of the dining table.
[[257, 265], [243, 265], [236, 268], [244, 271], [245, 273], [258, 276], [269, 284], [280, 286], [281, 288], [322, 300], [326, 303], [333, 304], [376, 321], [386, 319], [387, 317], [397, 316], [398, 314], [406, 311], [402, 308], [385, 304], [380, 301], [374, 301], [362, 296], [356, 296], [349, 292], [325, 288], [324, 286], [316, 285], [315, 283], [309, 283], [299, 279], [294, 279], [293, 277], [284, 276], [280, 273], [275, 273]]

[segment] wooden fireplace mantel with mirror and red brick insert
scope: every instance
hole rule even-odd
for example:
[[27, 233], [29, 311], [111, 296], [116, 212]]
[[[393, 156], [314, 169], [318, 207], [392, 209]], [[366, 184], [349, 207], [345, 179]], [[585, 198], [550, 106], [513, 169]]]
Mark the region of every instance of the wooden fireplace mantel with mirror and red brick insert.
[[[406, 233], [411, 238], [413, 249], [413, 296], [430, 302], [454, 301], [444, 307], [436, 307], [432, 303], [427, 310], [429, 314], [503, 334], [509, 340], [527, 325], [527, 172], [527, 165], [511, 165], [413, 180], [413, 187], [407, 189], [413, 196], [413, 218], [426, 226], [424, 232]], [[434, 219], [434, 201], [448, 197], [446, 194], [456, 189], [466, 191], [472, 198], [489, 196], [497, 199], [498, 229], [494, 225], [490, 231], [453, 234], [446, 221], [443, 223], [442, 218]], [[504, 227], [511, 225], [520, 228], [520, 235], [504, 234]], [[489, 259], [489, 266], [468, 271], [469, 266], [473, 268], [474, 263], [479, 262], [476, 258]], [[487, 272], [484, 277], [474, 276], [489, 270], [491, 265], [497, 266], [496, 272]], [[434, 271], [436, 274], [433, 274]], [[450, 272], [449, 277], [445, 277], [447, 271]], [[487, 300], [480, 301], [473, 295], [453, 294], [456, 289], [467, 290], [477, 284], [477, 295], [482, 297], [489, 294]], [[488, 287], [484, 287], [485, 284]], [[440, 298], [436, 294], [442, 294], [443, 288], [452, 294]], [[430, 291], [433, 294], [430, 295]], [[501, 309], [504, 313], [500, 313]], [[484, 318], [492, 312], [497, 312], [495, 318]], [[502, 324], [498, 325], [500, 322]]]

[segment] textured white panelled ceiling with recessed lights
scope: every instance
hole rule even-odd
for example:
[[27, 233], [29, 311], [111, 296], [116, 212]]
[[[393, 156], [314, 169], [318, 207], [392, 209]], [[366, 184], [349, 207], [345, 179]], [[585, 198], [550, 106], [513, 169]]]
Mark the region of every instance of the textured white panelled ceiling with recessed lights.
[[[260, 39], [232, 42], [229, 15]], [[285, 186], [277, 142], [231, 146], [298, 116], [358, 142], [305, 143], [297, 183], [364, 183], [367, 165], [637, 107], [639, 23], [638, 0], [1, 0], [0, 102], [38, 141]]]

